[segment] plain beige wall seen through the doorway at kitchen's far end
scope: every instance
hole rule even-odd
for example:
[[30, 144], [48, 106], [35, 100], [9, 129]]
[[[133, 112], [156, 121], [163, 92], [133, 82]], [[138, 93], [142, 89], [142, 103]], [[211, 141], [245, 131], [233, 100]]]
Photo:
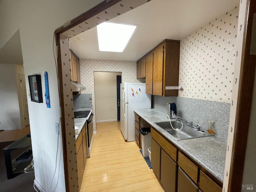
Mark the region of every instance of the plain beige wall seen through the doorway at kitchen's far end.
[[117, 121], [116, 76], [121, 72], [94, 72], [96, 122]]

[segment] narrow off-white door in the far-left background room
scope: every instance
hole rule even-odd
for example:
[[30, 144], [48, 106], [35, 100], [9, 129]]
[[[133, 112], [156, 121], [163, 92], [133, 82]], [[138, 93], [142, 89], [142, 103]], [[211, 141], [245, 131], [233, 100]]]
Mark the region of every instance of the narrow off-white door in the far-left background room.
[[29, 116], [28, 116], [28, 100], [27, 100], [27, 91], [26, 91], [26, 81], [25, 75], [20, 74], [20, 90], [22, 98], [22, 108], [24, 114], [24, 125], [29, 125]]

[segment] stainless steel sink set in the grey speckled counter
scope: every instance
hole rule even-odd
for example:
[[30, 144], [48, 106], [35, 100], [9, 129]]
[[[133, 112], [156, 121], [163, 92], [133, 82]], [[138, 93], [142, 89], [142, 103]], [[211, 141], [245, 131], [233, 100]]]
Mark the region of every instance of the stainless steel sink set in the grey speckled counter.
[[181, 128], [181, 122], [173, 120], [172, 126], [170, 121], [162, 121], [162, 122], [155, 122], [158, 126], [168, 132], [171, 136], [173, 136], [176, 140], [184, 140], [184, 139], [192, 139], [192, 138], [199, 138], [199, 137], [206, 137], [206, 136], [213, 136], [214, 134], [209, 134], [207, 131], [201, 130], [197, 131], [195, 128], [192, 128], [186, 124], [183, 124], [182, 130], [178, 131]]

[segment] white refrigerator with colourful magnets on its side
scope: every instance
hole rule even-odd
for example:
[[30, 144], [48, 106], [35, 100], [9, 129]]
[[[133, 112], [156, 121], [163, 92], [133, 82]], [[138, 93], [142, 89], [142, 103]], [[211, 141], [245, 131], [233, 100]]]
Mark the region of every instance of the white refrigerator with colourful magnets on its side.
[[151, 95], [145, 83], [120, 84], [120, 129], [127, 141], [135, 141], [134, 110], [150, 109]]

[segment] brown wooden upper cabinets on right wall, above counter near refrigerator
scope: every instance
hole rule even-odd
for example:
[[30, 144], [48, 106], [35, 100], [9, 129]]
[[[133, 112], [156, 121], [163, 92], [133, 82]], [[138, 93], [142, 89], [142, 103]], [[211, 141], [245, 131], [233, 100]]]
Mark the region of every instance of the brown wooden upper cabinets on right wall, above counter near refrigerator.
[[137, 78], [142, 76], [144, 58], [146, 58], [146, 93], [178, 96], [178, 90], [170, 90], [166, 87], [178, 86], [179, 84], [180, 41], [166, 39], [143, 56], [137, 62]]

